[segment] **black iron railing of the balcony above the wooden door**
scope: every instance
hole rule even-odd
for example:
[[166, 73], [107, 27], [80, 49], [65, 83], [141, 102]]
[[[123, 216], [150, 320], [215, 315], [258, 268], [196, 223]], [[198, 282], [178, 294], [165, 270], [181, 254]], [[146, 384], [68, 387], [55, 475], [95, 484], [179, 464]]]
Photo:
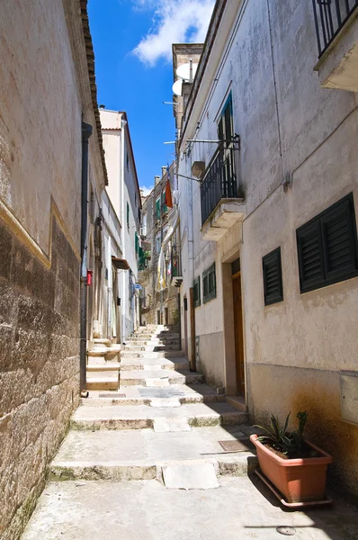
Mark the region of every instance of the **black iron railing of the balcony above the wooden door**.
[[201, 182], [201, 224], [220, 199], [237, 197], [237, 177], [235, 174], [234, 148], [220, 146], [212, 157]]

